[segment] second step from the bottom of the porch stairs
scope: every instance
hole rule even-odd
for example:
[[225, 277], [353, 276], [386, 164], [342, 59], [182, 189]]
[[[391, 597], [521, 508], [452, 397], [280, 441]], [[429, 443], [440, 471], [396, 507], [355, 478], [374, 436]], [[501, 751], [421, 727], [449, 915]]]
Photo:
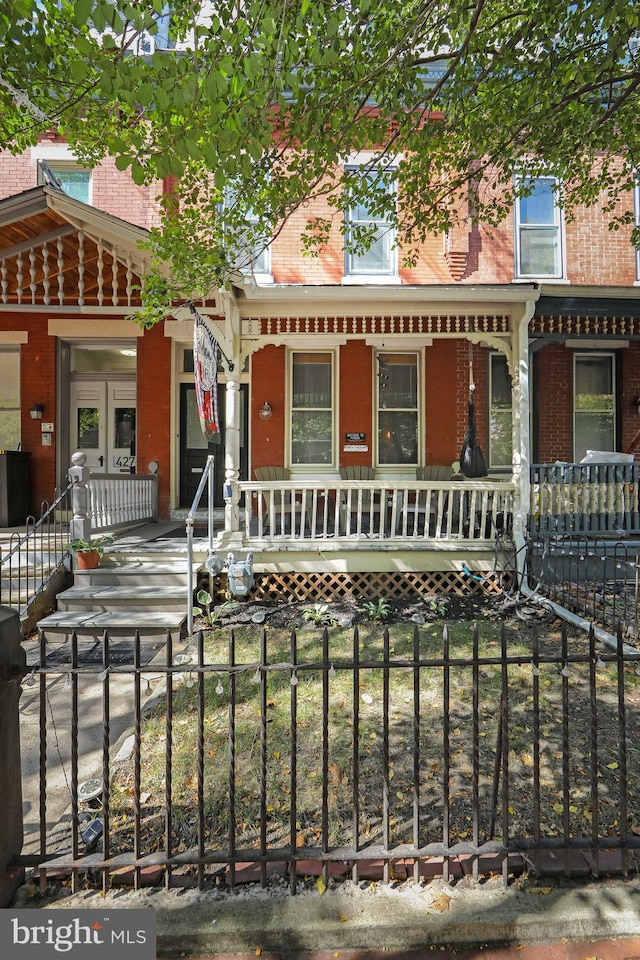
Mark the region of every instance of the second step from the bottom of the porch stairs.
[[[84, 579], [84, 578], [82, 578]], [[87, 584], [70, 587], [58, 594], [58, 610], [128, 611], [187, 609], [187, 589], [183, 584]]]

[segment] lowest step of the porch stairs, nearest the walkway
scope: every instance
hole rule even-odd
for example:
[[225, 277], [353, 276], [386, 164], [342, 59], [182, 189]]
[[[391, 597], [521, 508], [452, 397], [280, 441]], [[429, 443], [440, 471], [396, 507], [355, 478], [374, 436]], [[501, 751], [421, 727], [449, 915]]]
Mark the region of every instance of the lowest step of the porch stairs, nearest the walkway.
[[70, 610], [52, 613], [38, 621], [38, 629], [49, 637], [77, 636], [99, 639], [105, 630], [110, 636], [140, 636], [164, 638], [167, 631], [174, 639], [180, 634], [186, 613], [158, 610], [130, 610], [104, 613], [94, 610]]

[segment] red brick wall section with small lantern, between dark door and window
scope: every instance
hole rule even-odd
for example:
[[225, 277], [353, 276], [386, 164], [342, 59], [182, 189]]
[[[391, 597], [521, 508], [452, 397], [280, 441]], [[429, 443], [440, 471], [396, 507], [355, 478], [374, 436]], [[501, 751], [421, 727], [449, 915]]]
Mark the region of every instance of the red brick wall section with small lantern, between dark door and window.
[[[251, 358], [251, 466], [267, 467], [284, 463], [285, 433], [285, 351], [268, 346]], [[260, 419], [265, 401], [271, 404], [270, 420]], [[255, 479], [255, 478], [253, 478]]]

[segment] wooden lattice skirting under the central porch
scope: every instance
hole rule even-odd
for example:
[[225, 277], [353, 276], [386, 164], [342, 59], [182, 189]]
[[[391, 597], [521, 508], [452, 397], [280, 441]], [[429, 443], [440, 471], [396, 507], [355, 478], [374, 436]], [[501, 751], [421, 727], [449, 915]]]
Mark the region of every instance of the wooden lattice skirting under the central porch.
[[[226, 587], [225, 578], [220, 586]], [[400, 599], [424, 595], [501, 593], [508, 584], [505, 575], [462, 571], [428, 573], [265, 573], [257, 574], [248, 599], [260, 602], [296, 600], [326, 603], [344, 598]]]

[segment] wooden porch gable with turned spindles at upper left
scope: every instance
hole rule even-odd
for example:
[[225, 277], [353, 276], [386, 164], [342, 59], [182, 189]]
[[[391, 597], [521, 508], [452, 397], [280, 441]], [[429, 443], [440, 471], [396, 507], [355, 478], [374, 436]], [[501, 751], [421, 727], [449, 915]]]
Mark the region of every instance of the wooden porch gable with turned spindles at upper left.
[[138, 306], [146, 235], [51, 187], [0, 201], [0, 304]]

